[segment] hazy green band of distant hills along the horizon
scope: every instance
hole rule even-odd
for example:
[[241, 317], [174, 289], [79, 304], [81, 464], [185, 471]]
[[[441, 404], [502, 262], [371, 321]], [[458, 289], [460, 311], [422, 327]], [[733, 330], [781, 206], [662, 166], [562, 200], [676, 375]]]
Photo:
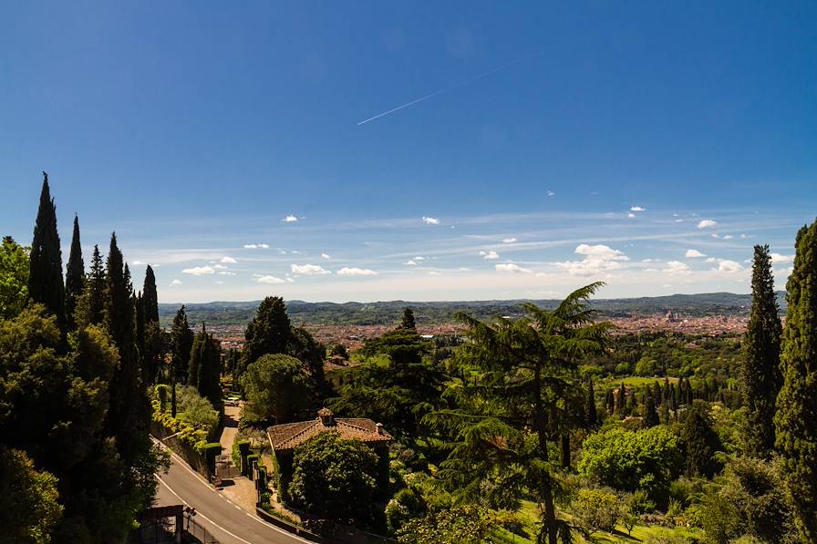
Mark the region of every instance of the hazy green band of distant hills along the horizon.
[[[786, 311], [785, 293], [778, 292], [781, 313]], [[521, 315], [519, 305], [533, 302], [546, 308], [553, 308], [556, 300], [512, 300], [512, 301], [469, 301], [411, 303], [390, 301], [379, 303], [306, 303], [287, 301], [286, 308], [293, 323], [311, 324], [393, 324], [398, 323], [403, 308], [414, 309], [418, 323], [450, 323], [458, 312], [471, 313], [485, 319], [497, 315]], [[253, 319], [260, 301], [231, 303], [185, 304], [191, 323], [229, 325], [248, 323]], [[750, 294], [701, 293], [673, 294], [668, 296], [641, 297], [630, 299], [597, 299], [593, 306], [602, 314], [611, 317], [644, 315], [672, 312], [679, 315], [701, 317], [706, 315], [742, 315], [749, 313]], [[159, 304], [160, 323], [168, 326], [181, 304]]]

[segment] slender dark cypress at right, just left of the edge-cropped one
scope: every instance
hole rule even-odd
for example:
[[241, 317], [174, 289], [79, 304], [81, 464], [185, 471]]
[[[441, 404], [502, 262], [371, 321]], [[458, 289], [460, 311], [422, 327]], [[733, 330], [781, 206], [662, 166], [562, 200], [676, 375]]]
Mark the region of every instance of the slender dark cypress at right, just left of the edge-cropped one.
[[756, 245], [751, 274], [751, 311], [741, 368], [746, 405], [747, 453], [767, 457], [774, 448], [774, 413], [782, 386], [781, 319], [774, 296], [768, 245]]

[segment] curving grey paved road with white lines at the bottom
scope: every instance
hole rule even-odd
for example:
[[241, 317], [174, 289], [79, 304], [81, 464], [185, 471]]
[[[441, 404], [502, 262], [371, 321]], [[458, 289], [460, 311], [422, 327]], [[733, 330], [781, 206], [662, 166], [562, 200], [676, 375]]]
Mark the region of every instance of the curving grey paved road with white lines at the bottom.
[[173, 454], [171, 470], [159, 476], [159, 506], [185, 504], [196, 508], [194, 518], [221, 544], [303, 544], [301, 539], [278, 529], [224, 497]]

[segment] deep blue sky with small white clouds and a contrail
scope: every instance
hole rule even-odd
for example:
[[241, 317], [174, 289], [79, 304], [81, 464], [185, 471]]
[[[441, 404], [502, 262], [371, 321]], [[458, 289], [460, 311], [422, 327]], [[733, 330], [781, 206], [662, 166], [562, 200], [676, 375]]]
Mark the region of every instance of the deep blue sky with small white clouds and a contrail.
[[782, 286], [815, 59], [809, 2], [6, 3], [0, 225], [46, 169], [163, 302]]

